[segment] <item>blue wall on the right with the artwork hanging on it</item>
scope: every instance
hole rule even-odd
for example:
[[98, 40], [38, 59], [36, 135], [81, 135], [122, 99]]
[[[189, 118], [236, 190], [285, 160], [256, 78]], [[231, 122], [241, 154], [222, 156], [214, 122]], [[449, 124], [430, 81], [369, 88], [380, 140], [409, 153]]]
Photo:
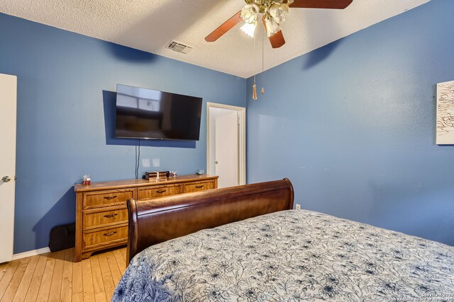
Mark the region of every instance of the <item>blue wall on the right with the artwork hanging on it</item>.
[[265, 71], [256, 101], [248, 79], [248, 182], [289, 177], [303, 208], [454, 245], [454, 146], [435, 144], [453, 13], [432, 0]]

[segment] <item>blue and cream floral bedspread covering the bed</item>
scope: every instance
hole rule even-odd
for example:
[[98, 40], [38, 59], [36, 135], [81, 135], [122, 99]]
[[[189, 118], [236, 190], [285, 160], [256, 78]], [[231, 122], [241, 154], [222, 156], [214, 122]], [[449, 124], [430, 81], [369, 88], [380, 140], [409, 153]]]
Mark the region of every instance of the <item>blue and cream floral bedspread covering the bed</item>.
[[454, 247], [280, 211], [140, 252], [112, 301], [454, 301]]

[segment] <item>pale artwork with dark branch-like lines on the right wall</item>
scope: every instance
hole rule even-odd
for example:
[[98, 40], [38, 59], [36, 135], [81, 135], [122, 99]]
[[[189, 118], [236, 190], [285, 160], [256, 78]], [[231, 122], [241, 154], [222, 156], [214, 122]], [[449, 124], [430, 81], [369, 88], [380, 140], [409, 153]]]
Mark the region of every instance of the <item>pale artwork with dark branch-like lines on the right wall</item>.
[[437, 83], [436, 144], [454, 145], [454, 81]]

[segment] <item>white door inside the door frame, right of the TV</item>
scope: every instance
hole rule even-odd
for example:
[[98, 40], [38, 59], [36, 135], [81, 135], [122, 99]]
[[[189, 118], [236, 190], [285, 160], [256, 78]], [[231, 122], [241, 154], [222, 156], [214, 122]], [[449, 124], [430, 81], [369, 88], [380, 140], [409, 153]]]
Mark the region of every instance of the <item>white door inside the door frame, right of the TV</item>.
[[[222, 109], [221, 109], [222, 110]], [[238, 183], [238, 113], [222, 110], [215, 119], [215, 173], [218, 187], [233, 187]]]

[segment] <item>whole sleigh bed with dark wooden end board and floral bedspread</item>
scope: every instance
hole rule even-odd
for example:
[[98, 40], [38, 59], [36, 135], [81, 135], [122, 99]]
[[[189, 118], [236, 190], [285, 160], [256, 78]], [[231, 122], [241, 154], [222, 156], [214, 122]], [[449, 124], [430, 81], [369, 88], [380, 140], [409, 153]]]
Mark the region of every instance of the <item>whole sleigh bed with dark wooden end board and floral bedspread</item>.
[[284, 179], [131, 200], [112, 301], [454, 301], [453, 247], [293, 198]]

